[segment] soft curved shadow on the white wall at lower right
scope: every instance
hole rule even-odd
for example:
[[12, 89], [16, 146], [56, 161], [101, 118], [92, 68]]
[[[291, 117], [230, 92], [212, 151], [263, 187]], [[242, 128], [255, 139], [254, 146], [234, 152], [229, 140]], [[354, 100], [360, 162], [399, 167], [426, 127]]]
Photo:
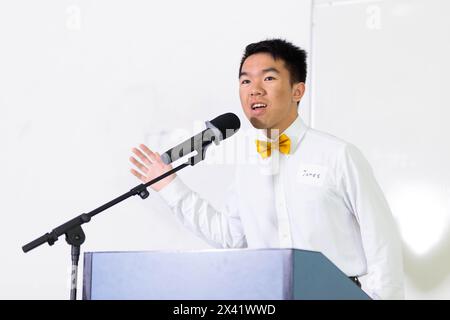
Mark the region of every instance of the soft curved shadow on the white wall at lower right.
[[450, 228], [432, 250], [417, 255], [403, 246], [405, 274], [422, 291], [438, 287], [450, 275]]

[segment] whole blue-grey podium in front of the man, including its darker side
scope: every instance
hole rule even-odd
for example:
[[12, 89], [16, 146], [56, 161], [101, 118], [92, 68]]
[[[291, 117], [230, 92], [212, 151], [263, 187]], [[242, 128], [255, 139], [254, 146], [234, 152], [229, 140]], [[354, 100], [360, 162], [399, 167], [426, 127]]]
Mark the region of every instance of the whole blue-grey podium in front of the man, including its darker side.
[[370, 298], [320, 252], [219, 249], [86, 252], [83, 299]]

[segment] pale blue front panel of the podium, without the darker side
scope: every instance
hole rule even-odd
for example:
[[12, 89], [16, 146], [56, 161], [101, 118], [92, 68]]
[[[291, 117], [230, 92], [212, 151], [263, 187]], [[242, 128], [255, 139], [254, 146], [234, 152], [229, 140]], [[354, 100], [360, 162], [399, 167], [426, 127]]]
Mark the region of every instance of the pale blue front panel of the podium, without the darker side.
[[290, 250], [85, 253], [84, 299], [288, 299]]

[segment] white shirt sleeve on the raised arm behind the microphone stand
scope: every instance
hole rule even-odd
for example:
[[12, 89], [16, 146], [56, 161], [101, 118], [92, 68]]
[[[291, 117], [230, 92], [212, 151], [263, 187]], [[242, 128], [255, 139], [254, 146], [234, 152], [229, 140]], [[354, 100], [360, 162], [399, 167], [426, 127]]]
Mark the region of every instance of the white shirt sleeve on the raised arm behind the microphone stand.
[[247, 247], [234, 184], [229, 189], [227, 204], [222, 211], [213, 208], [178, 176], [158, 194], [187, 228], [213, 247]]

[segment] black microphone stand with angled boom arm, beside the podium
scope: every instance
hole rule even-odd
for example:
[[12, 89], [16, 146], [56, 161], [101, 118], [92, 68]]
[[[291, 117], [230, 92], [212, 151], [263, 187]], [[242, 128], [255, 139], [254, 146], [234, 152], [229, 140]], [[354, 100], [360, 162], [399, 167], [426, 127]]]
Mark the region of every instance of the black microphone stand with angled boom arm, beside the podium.
[[[198, 151], [198, 150], [197, 150]], [[34, 248], [44, 244], [48, 243], [50, 246], [52, 246], [61, 235], [66, 236], [66, 242], [71, 246], [71, 256], [72, 256], [72, 273], [71, 273], [71, 288], [70, 288], [70, 300], [76, 300], [77, 297], [77, 276], [78, 276], [78, 260], [80, 257], [80, 247], [86, 240], [86, 235], [83, 232], [83, 229], [81, 228], [82, 224], [88, 223], [91, 221], [91, 218], [95, 216], [96, 214], [99, 214], [102, 211], [105, 211], [108, 208], [111, 208], [112, 206], [128, 199], [131, 196], [139, 195], [142, 199], [146, 199], [149, 196], [149, 192], [147, 190], [147, 187], [151, 186], [152, 184], [170, 176], [171, 174], [183, 169], [184, 167], [187, 167], [188, 165], [195, 165], [199, 161], [204, 159], [205, 151], [198, 152], [197, 155], [189, 158], [187, 162], [179, 165], [178, 167], [160, 175], [159, 177], [145, 183], [140, 184], [127, 193], [124, 193], [123, 195], [115, 198], [114, 200], [111, 200], [110, 202], [102, 205], [101, 207], [98, 207], [97, 209], [89, 212], [89, 213], [83, 213], [79, 215], [78, 217], [73, 218], [72, 220], [67, 221], [66, 223], [60, 225], [59, 227], [56, 227], [51, 232], [48, 232], [44, 234], [43, 236], [31, 241], [30, 243], [24, 245], [22, 247], [23, 252], [28, 252], [30, 250], [33, 250]]]

